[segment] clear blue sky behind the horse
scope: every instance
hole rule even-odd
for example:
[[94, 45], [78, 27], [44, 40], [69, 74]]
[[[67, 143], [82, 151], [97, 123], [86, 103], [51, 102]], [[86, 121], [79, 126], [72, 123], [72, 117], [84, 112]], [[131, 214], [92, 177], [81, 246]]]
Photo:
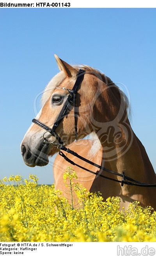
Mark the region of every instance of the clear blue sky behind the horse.
[[0, 9], [0, 179], [32, 173], [53, 183], [52, 165], [27, 167], [20, 143], [35, 95], [58, 73], [54, 54], [128, 88], [131, 125], [156, 171], [155, 25], [156, 9]]

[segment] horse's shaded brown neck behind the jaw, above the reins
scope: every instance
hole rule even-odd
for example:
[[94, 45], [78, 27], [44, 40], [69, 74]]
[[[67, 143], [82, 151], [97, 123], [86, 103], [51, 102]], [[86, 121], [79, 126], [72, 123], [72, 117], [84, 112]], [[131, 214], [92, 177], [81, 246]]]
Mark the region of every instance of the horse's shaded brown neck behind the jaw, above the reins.
[[153, 183], [156, 175], [144, 146], [131, 128], [124, 95], [115, 85], [111, 87], [103, 82], [98, 90], [90, 123], [101, 143], [105, 166], [116, 172], [124, 171], [133, 179]]

